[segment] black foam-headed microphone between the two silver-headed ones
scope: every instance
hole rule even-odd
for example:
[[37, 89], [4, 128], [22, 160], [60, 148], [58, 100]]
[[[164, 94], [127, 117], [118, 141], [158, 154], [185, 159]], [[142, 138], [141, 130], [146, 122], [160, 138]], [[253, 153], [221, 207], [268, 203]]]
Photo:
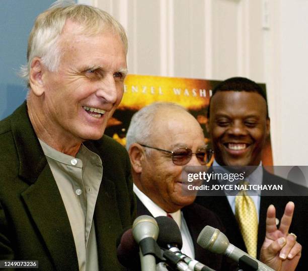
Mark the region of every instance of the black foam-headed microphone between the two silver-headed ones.
[[[178, 258], [181, 258], [188, 264], [188, 267], [194, 271], [215, 271], [214, 269], [202, 264], [201, 262], [188, 257], [181, 252], [183, 245], [181, 231], [178, 224], [169, 217], [161, 216], [155, 218], [159, 225], [160, 232], [157, 238], [157, 243], [163, 248], [167, 248], [172, 251]], [[165, 252], [166, 253], [166, 252]], [[168, 255], [164, 253], [167, 258]], [[167, 252], [168, 253], [168, 252]], [[169, 254], [170, 255], [170, 254]]]

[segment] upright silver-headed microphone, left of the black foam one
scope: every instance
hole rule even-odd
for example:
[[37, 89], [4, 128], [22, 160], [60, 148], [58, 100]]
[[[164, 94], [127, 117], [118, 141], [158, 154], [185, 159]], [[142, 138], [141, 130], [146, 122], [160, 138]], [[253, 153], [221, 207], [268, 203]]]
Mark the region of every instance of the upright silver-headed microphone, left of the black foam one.
[[[139, 256], [141, 270], [156, 270], [156, 258], [152, 255], [159, 235], [159, 227], [156, 220], [150, 216], [137, 217], [132, 226], [135, 241], [139, 244]], [[149, 252], [150, 251], [150, 252]]]

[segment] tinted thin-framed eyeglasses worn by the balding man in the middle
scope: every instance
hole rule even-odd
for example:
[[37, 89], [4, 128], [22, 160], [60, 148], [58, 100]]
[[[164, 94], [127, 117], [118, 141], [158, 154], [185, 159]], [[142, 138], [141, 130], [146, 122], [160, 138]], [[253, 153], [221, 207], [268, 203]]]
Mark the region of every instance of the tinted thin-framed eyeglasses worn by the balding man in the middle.
[[178, 148], [176, 149], [175, 151], [168, 151], [168, 150], [163, 150], [163, 149], [160, 149], [160, 148], [155, 148], [155, 147], [151, 147], [151, 146], [147, 146], [147, 145], [143, 145], [143, 144], [139, 144], [140, 146], [142, 147], [145, 147], [145, 148], [150, 148], [150, 149], [154, 149], [154, 150], [158, 150], [158, 151], [162, 151], [162, 152], [166, 152], [166, 153], [171, 153], [172, 154], [172, 162], [175, 164], [175, 165], [178, 165], [178, 166], [184, 166], [186, 165], [193, 154], [196, 155], [199, 163], [201, 165], [206, 165], [209, 163], [209, 161], [211, 160], [211, 157], [214, 153], [214, 151], [212, 151], [211, 149], [206, 149], [206, 148], [203, 148], [203, 149], [200, 149], [198, 150], [196, 153], [193, 153], [191, 149], [189, 148]]

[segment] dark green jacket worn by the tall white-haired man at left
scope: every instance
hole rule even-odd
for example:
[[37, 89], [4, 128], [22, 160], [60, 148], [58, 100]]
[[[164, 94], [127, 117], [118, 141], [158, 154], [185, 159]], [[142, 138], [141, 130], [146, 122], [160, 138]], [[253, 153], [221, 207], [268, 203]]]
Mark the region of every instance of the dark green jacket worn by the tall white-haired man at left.
[[[116, 239], [135, 217], [130, 162], [105, 136], [84, 143], [100, 155], [103, 179], [94, 221], [101, 270], [121, 270]], [[41, 270], [78, 270], [65, 207], [26, 103], [0, 122], [0, 259], [38, 260]]]

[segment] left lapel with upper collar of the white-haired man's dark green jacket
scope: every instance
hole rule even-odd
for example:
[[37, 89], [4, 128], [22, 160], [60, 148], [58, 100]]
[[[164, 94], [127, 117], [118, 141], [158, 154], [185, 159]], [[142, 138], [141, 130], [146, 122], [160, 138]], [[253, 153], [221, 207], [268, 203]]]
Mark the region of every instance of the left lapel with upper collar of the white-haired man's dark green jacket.
[[11, 126], [19, 159], [19, 177], [29, 185], [21, 194], [29, 216], [49, 251], [55, 269], [78, 269], [66, 210], [30, 122], [26, 102], [12, 115]]

